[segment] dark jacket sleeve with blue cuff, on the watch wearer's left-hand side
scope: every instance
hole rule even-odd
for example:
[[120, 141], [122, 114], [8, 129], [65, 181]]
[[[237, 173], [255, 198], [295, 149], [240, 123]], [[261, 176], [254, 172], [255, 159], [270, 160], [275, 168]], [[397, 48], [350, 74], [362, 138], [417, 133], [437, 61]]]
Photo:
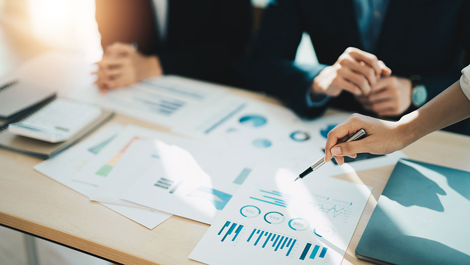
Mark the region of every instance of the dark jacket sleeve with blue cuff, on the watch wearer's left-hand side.
[[295, 0], [271, 1], [242, 73], [253, 89], [280, 99], [300, 116], [312, 117], [326, 108], [327, 101], [312, 105], [307, 98], [313, 78], [326, 65], [294, 63], [303, 32], [299, 14]]

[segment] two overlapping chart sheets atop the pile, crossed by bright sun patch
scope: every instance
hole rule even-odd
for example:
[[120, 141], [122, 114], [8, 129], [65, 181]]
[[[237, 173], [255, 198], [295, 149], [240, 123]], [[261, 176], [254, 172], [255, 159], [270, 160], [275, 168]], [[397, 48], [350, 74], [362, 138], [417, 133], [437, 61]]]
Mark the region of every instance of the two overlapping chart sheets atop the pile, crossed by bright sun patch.
[[140, 206], [211, 223], [243, 183], [251, 162], [188, 139], [128, 125], [75, 181], [91, 199]]

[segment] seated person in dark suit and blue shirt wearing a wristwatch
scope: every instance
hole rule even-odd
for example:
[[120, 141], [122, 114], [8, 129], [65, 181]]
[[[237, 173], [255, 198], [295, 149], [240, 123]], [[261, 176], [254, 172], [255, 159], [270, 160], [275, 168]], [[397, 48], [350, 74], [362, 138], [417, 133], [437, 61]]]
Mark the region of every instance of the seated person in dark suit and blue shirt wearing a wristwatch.
[[[465, 0], [273, 0], [242, 73], [304, 117], [333, 106], [399, 118], [470, 63], [469, 13]], [[303, 32], [318, 64], [294, 62]]]

